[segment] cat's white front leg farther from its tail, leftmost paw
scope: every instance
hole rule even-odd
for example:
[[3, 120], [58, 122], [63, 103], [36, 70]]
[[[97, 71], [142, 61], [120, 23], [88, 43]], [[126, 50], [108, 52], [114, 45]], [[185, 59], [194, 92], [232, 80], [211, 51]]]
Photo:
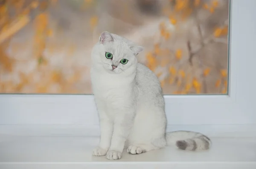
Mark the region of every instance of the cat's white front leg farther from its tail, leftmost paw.
[[111, 137], [113, 133], [113, 121], [109, 119], [102, 105], [97, 104], [100, 121], [100, 141], [99, 146], [93, 149], [93, 155], [106, 155], [111, 145]]

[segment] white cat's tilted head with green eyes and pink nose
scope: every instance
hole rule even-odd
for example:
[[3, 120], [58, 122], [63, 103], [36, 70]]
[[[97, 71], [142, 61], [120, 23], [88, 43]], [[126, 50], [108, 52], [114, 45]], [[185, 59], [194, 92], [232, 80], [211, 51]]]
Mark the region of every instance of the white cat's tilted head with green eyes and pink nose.
[[136, 69], [136, 55], [143, 51], [143, 47], [134, 46], [123, 37], [109, 32], [102, 32], [96, 48], [97, 58], [93, 58], [98, 64], [111, 74], [121, 74]]

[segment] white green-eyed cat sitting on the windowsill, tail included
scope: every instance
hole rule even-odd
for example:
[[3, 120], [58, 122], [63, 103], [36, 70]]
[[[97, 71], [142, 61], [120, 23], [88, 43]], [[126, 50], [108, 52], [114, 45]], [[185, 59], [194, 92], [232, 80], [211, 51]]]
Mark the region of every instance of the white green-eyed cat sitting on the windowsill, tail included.
[[166, 133], [160, 82], [137, 62], [142, 51], [143, 47], [106, 31], [93, 47], [91, 81], [101, 132], [93, 155], [120, 159], [126, 146], [130, 154], [175, 144], [183, 150], [209, 149], [211, 141], [201, 133]]

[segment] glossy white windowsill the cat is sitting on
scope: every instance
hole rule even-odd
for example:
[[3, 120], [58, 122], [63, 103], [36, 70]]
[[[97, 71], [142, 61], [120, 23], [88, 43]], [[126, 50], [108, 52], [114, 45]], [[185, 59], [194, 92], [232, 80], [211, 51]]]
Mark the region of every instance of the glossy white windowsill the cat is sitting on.
[[133, 166], [136, 169], [256, 168], [256, 137], [212, 138], [212, 148], [203, 152], [185, 152], [171, 146], [141, 155], [129, 155], [124, 151], [121, 160], [115, 161], [91, 155], [98, 137], [0, 135], [0, 140], [0, 169], [125, 169], [132, 164], [136, 164]]

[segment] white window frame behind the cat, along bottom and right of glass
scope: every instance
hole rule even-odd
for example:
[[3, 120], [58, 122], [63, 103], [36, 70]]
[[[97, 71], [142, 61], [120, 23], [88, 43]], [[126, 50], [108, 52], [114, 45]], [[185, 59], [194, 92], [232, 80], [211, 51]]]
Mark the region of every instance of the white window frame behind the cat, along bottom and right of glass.
[[[188, 129], [210, 135], [256, 133], [255, 6], [256, 0], [231, 0], [228, 95], [165, 95], [170, 130]], [[0, 124], [5, 124], [0, 125], [2, 133], [7, 124], [22, 124], [24, 128], [19, 126], [18, 131], [12, 128], [17, 133], [35, 124], [33, 129], [55, 126], [70, 134], [91, 134], [96, 130], [99, 135], [93, 95], [2, 94]], [[68, 129], [61, 128], [65, 125], [69, 125]]]

